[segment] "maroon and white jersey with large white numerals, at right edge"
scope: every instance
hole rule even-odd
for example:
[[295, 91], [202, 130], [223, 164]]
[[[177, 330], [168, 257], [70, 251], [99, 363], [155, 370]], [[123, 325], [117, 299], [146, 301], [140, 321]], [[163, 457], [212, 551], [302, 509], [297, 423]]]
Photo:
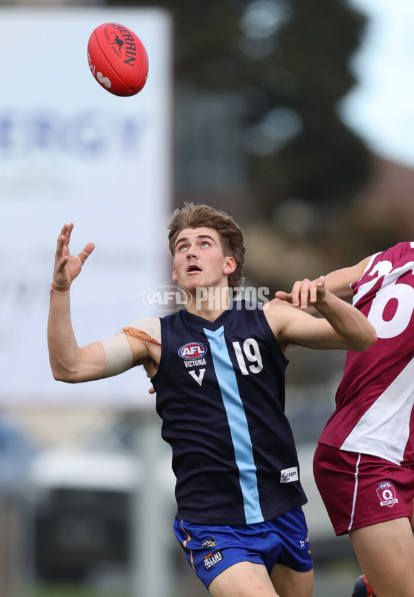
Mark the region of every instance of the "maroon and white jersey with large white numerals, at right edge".
[[377, 342], [348, 352], [336, 409], [319, 443], [414, 464], [414, 242], [375, 254], [351, 285]]

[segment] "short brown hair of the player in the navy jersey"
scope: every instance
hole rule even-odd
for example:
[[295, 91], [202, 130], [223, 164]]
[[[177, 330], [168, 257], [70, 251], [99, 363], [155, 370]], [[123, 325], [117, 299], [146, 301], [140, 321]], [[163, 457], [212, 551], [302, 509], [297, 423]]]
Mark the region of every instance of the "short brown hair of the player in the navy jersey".
[[172, 256], [175, 254], [175, 241], [179, 232], [185, 228], [201, 226], [213, 228], [219, 233], [224, 255], [233, 257], [236, 262], [235, 271], [228, 276], [228, 286], [233, 289], [241, 287], [244, 283], [242, 274], [246, 263], [244, 234], [233, 218], [225, 212], [210, 208], [208, 205], [194, 205], [193, 203], [184, 203], [183, 208], [175, 210], [168, 224], [170, 229], [168, 242]]

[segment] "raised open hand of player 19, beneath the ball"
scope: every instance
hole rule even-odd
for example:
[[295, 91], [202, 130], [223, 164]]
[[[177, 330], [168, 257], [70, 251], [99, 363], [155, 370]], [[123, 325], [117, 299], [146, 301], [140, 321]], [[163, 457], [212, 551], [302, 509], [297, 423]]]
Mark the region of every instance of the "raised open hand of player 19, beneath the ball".
[[71, 255], [69, 252], [70, 234], [72, 234], [73, 223], [63, 225], [59, 239], [57, 239], [57, 249], [55, 255], [55, 270], [53, 272], [53, 282], [58, 287], [68, 287], [70, 283], [81, 271], [83, 263], [95, 249], [93, 243], [88, 243], [86, 247], [77, 255]]

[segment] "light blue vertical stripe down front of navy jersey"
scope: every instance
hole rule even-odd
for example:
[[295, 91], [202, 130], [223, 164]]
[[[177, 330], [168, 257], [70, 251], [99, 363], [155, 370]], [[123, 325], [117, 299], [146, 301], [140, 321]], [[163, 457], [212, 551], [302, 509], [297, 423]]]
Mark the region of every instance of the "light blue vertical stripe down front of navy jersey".
[[224, 339], [224, 326], [221, 325], [215, 332], [204, 328], [204, 333], [210, 343], [215, 374], [226, 409], [228, 425], [230, 426], [236, 463], [239, 467], [239, 480], [242, 487], [246, 523], [261, 523], [264, 518], [259, 503], [253, 448], [248, 432], [246, 413], [237, 386], [236, 374]]

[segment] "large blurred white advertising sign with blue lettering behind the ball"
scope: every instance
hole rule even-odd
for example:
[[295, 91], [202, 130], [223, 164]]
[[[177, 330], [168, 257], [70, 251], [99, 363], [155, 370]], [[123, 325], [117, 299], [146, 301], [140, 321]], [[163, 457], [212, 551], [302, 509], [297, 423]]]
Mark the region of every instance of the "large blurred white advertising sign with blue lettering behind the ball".
[[[0, 403], [152, 407], [132, 370], [80, 385], [52, 378], [46, 326], [57, 237], [95, 243], [72, 284], [79, 345], [140, 317], [170, 282], [172, 23], [157, 9], [2, 8], [0, 62]], [[116, 97], [92, 77], [86, 47], [101, 23], [141, 39], [148, 81]], [[18, 34], [17, 34], [18, 32]], [[141, 368], [140, 368], [141, 369]]]

